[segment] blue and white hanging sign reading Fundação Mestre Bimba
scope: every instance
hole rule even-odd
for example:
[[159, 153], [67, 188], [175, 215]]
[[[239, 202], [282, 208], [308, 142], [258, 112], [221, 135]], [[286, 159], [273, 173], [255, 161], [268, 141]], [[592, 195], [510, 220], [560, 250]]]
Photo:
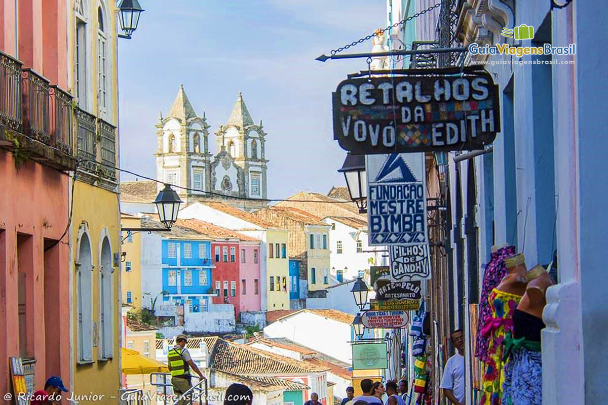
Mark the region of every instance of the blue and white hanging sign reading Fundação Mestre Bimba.
[[424, 154], [370, 155], [365, 168], [370, 246], [428, 243]]

